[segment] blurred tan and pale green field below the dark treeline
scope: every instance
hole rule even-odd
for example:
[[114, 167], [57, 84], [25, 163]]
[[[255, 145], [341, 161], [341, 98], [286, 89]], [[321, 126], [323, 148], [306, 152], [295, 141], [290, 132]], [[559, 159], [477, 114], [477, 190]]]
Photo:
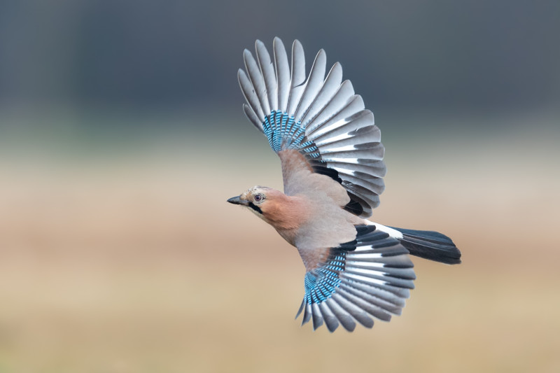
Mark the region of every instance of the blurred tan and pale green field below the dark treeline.
[[463, 264], [416, 258], [402, 316], [330, 335], [293, 321], [295, 248], [225, 202], [281, 188], [274, 153], [241, 120], [122, 148], [20, 138], [1, 150], [0, 372], [560, 371], [553, 122], [388, 129], [372, 220], [444, 232]]

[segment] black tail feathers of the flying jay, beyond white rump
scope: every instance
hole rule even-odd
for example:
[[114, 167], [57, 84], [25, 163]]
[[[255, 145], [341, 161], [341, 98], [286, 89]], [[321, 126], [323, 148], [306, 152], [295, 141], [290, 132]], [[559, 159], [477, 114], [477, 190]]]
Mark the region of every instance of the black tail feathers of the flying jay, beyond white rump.
[[435, 260], [448, 265], [461, 263], [461, 251], [453, 241], [444, 234], [428, 230], [404, 230], [391, 227], [402, 233], [400, 244], [405, 246], [410, 255], [420, 258]]

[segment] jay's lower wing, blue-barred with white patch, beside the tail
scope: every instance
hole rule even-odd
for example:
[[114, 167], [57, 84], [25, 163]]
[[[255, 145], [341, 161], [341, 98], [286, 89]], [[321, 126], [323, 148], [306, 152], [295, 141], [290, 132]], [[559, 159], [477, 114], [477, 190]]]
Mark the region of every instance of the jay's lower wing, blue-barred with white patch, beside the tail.
[[371, 328], [372, 316], [390, 321], [405, 307], [416, 279], [407, 249], [375, 225], [356, 230], [356, 240], [331, 248], [327, 260], [305, 274], [297, 312], [303, 311], [302, 325], [312, 320], [314, 330], [325, 323], [333, 332], [342, 324], [351, 332], [356, 321]]

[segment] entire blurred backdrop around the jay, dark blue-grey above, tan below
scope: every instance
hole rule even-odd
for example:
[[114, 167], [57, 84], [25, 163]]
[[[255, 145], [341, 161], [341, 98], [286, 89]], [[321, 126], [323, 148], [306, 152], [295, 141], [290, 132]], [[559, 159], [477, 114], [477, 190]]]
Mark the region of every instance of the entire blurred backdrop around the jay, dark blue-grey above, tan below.
[[[439, 230], [402, 316], [292, 320], [244, 48], [342, 62], [386, 145], [373, 219]], [[559, 372], [559, 1], [1, 1], [0, 372]]]

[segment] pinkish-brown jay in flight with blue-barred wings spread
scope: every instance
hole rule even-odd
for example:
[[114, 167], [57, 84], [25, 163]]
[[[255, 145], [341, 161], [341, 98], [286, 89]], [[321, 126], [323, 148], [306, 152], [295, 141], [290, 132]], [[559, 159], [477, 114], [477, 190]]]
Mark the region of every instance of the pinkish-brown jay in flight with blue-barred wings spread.
[[[237, 78], [248, 120], [267, 137], [281, 162], [283, 191], [254, 186], [231, 204], [244, 206], [295, 246], [304, 267], [304, 297], [296, 319], [313, 330], [400, 315], [414, 288], [414, 255], [448, 265], [461, 252], [444, 234], [389, 227], [368, 220], [384, 191], [385, 148], [337, 62], [326, 73], [319, 50], [306, 76], [302, 43], [291, 61], [280, 38], [272, 56], [262, 41], [243, 52]], [[325, 76], [326, 73], [326, 76]]]

